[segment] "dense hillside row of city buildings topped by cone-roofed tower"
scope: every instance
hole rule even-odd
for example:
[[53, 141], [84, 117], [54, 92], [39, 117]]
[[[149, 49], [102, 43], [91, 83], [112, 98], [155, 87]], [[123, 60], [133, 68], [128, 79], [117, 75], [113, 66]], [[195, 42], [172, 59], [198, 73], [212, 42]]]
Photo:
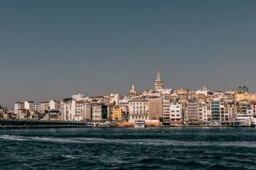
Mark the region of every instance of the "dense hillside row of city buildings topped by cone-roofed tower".
[[207, 125], [234, 123], [256, 117], [256, 94], [246, 86], [233, 91], [211, 92], [206, 86], [198, 91], [186, 88], [164, 89], [158, 72], [154, 90], [137, 92], [134, 86], [126, 96], [73, 95], [62, 101], [14, 104], [14, 111], [0, 106], [1, 118], [70, 120], [92, 122], [134, 122], [162, 125]]

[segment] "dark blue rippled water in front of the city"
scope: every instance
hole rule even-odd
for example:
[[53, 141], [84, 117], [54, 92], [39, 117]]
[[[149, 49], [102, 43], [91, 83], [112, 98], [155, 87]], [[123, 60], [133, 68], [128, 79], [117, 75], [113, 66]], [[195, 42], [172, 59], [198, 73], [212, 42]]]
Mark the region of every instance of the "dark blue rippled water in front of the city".
[[0, 169], [256, 169], [256, 129], [0, 130]]

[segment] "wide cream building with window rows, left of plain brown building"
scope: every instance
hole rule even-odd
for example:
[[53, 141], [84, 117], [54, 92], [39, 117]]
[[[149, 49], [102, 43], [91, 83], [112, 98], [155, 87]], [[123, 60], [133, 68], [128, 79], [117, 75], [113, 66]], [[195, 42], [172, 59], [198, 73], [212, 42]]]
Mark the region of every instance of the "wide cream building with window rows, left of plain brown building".
[[129, 101], [129, 120], [149, 120], [149, 101], [145, 98]]

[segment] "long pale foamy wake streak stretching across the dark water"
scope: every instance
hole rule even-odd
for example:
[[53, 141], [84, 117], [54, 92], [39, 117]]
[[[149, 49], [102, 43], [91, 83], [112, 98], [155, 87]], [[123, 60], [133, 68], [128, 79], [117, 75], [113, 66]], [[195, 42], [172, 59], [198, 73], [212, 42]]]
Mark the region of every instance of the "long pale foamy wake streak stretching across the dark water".
[[187, 147], [256, 147], [255, 142], [250, 141], [193, 141], [186, 142], [180, 140], [151, 140], [151, 139], [106, 139], [100, 137], [26, 137], [21, 135], [0, 135], [1, 140], [16, 140], [16, 141], [34, 141], [34, 142], [57, 142], [57, 143], [107, 143], [107, 144], [122, 144], [122, 145], [155, 145], [155, 146], [187, 146]]

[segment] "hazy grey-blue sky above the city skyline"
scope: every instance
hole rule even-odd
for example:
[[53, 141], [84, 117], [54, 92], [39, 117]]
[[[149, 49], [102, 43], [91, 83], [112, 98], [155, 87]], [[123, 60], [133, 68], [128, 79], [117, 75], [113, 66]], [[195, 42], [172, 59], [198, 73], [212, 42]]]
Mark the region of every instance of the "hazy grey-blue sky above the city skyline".
[[256, 91], [256, 1], [0, 1], [0, 103], [203, 84]]

